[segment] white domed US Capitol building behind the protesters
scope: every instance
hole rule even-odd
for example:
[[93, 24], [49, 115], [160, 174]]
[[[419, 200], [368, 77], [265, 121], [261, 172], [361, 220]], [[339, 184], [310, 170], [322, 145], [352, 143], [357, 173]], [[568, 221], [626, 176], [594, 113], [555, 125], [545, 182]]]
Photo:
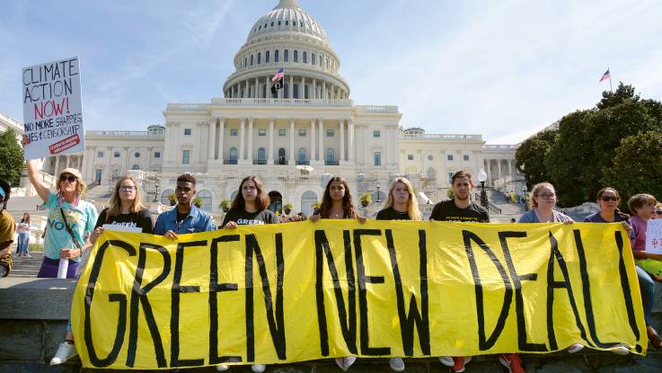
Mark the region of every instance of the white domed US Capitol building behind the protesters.
[[[488, 185], [523, 179], [516, 146], [403, 129], [397, 106], [355, 104], [326, 32], [296, 0], [280, 0], [255, 22], [234, 67], [223, 97], [168, 103], [165, 125], [146, 131], [88, 130], [84, 153], [50, 157], [43, 172], [80, 168], [96, 184], [89, 198], [98, 202], [129, 173], [142, 182], [145, 200], [165, 205], [177, 175], [193, 173], [203, 209], [214, 213], [250, 174], [264, 182], [271, 209], [288, 202], [305, 213], [322, 200], [331, 175], [345, 178], [357, 200], [369, 192], [374, 201], [384, 201], [393, 177], [405, 175], [421, 204], [445, 199], [459, 170], [484, 169]], [[280, 67], [286, 75], [276, 97], [271, 77]]]

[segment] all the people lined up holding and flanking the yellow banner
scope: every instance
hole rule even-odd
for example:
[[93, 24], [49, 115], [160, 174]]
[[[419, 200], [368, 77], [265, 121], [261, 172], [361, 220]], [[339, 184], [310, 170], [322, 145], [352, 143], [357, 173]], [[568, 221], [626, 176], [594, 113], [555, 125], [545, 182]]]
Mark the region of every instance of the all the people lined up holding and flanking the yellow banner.
[[[175, 194], [177, 205], [160, 214], [155, 220], [149, 209], [142, 203], [139, 185], [130, 176], [120, 177], [110, 196], [109, 206], [97, 214], [91, 202], [84, 200], [85, 184], [81, 173], [73, 168], [66, 168], [57, 176], [56, 190], [50, 191], [49, 186], [39, 177], [34, 161], [27, 161], [26, 168], [32, 185], [40, 199], [48, 209], [48, 224], [44, 239], [44, 256], [38, 277], [57, 277], [60, 260], [68, 261], [66, 277], [75, 279], [84, 267], [89, 248], [102, 235], [104, 227], [125, 226], [137, 229], [143, 233], [164, 235], [177, 240], [178, 235], [206, 232], [214, 229], [212, 219], [206, 211], [193, 204], [196, 195], [196, 179], [190, 173], [177, 178]], [[0, 180], [0, 277], [11, 271], [12, 259], [10, 245], [13, 243], [14, 222], [5, 211], [10, 198], [11, 187]], [[490, 215], [471, 199], [473, 182], [472, 174], [460, 171], [452, 177], [453, 199], [437, 203], [429, 217], [434, 221], [456, 221], [466, 223], [489, 223]], [[621, 222], [631, 233], [631, 248], [636, 262], [636, 270], [640, 283], [641, 299], [647, 324], [647, 333], [652, 347], [662, 349], [662, 338], [651, 325], [650, 313], [653, 306], [653, 289], [655, 281], [662, 280], [662, 255], [647, 253], [646, 222], [651, 218], [662, 218], [662, 204], [649, 194], [637, 194], [628, 201], [628, 207], [633, 214], [630, 217], [618, 209], [621, 197], [613, 188], [604, 188], [597, 193], [599, 211], [584, 219], [585, 222], [611, 223]], [[534, 185], [529, 200], [529, 208], [518, 223], [565, 223], [572, 224], [572, 218], [555, 209], [557, 194], [553, 185], [542, 182]], [[357, 219], [359, 223], [366, 222], [354, 205], [349, 184], [340, 177], [332, 177], [327, 183], [319, 209], [310, 217], [304, 214], [278, 216], [269, 210], [269, 194], [265, 191], [260, 179], [248, 176], [242, 180], [239, 192], [232, 201], [232, 207], [225, 214], [218, 229], [235, 229], [242, 225], [278, 224], [309, 219], [313, 223], [320, 219]], [[377, 220], [421, 220], [419, 202], [416, 199], [411, 183], [403, 177], [396, 178], [388, 192], [388, 200], [384, 209], [376, 214]], [[24, 214], [19, 223], [19, 249], [17, 255], [27, 255], [27, 243], [30, 232], [30, 216]], [[83, 262], [83, 263], [82, 263]], [[567, 346], [570, 353], [584, 348], [581, 344]], [[618, 346], [614, 353], [628, 354], [626, 346]], [[71, 332], [71, 323], [66, 327], [64, 341], [60, 343], [57, 352], [50, 361], [57, 365], [76, 355], [75, 341]], [[454, 372], [462, 372], [471, 357], [439, 357], [442, 364]], [[356, 356], [346, 356], [336, 359], [340, 369], [347, 370], [357, 360]], [[499, 361], [510, 372], [524, 372], [522, 361], [517, 354], [503, 354]], [[391, 369], [405, 369], [401, 357], [392, 358]], [[266, 365], [256, 363], [252, 371], [262, 372]], [[225, 364], [216, 366], [216, 370], [225, 371]]]

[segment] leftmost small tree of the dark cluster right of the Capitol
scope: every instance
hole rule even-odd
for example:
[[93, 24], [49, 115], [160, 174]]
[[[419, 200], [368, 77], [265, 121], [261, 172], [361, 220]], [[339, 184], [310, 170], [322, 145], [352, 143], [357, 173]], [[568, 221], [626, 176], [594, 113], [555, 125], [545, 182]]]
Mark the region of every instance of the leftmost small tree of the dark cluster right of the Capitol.
[[544, 160], [558, 136], [559, 131], [557, 129], [545, 129], [533, 137], [525, 139], [517, 147], [515, 153], [516, 167], [520, 173], [526, 174], [526, 184], [529, 191], [531, 191], [534, 184], [551, 180], [549, 172], [545, 168]]

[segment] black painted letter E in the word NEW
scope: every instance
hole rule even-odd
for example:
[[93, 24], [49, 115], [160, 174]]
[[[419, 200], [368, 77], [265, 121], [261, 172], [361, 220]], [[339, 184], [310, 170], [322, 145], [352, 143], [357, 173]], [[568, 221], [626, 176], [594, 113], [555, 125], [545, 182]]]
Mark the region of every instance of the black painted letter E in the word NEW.
[[357, 282], [358, 282], [358, 312], [361, 330], [361, 355], [390, 355], [389, 347], [370, 347], [370, 335], [368, 334], [367, 320], [367, 290], [366, 283], [383, 284], [384, 276], [366, 276], [366, 267], [363, 262], [363, 249], [361, 248], [361, 235], [382, 235], [379, 229], [357, 229], [354, 231], [354, 254], [357, 259]]

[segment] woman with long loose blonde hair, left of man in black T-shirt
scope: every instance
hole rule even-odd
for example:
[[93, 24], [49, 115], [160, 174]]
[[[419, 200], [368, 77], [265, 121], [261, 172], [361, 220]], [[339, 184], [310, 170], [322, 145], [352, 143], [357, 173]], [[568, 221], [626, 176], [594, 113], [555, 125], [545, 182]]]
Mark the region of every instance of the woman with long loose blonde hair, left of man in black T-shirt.
[[[422, 220], [419, 211], [419, 201], [416, 200], [414, 188], [409, 180], [399, 177], [391, 184], [388, 191], [386, 207], [377, 212], [377, 220]], [[391, 358], [389, 366], [393, 371], [402, 372], [402, 358]]]

